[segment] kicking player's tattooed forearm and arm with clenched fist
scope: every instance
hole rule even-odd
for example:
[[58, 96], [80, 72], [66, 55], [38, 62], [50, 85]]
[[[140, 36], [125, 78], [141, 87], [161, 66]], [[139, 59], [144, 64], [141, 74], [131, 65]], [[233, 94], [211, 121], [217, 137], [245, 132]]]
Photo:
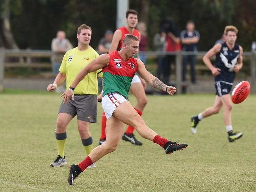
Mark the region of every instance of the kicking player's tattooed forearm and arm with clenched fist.
[[165, 85], [162, 81], [160, 81], [157, 77], [153, 76], [148, 70], [145, 68], [145, 65], [140, 59], [137, 59], [138, 68], [137, 72], [141, 78], [149, 83], [152, 87], [163, 90], [170, 95], [173, 95], [176, 92], [176, 88], [172, 86]]

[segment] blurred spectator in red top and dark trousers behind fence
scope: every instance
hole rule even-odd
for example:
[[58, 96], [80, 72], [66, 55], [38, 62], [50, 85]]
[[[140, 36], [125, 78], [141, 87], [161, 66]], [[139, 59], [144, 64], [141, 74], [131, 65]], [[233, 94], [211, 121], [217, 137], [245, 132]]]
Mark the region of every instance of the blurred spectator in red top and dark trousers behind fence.
[[[166, 52], [176, 52], [181, 50], [180, 38], [178, 36], [178, 27], [175, 24], [174, 20], [170, 17], [165, 18], [163, 22], [161, 22], [161, 30], [166, 33], [166, 44], [165, 51]], [[170, 76], [171, 76], [171, 64], [175, 64], [176, 55], [166, 55], [163, 58], [163, 83], [170, 84]]]

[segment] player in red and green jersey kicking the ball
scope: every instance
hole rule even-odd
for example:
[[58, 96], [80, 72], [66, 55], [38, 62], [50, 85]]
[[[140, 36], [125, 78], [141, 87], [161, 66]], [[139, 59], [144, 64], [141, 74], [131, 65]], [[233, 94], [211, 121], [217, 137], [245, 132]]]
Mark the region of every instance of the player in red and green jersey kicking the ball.
[[[135, 127], [137, 132], [148, 140], [159, 144], [165, 153], [171, 154], [173, 151], [182, 150], [187, 144], [178, 144], [162, 138], [152, 129], [146, 126], [141, 116], [128, 102], [128, 92], [135, 72], [145, 79], [152, 87], [163, 90], [170, 95], [176, 92], [175, 87], [163, 84], [158, 78], [150, 74], [143, 62], [134, 55], [139, 48], [139, 40], [134, 35], [127, 35], [122, 42], [122, 49], [109, 54], [102, 54], [85, 66], [76, 76], [69, 89], [62, 94], [63, 103], [74, 100], [74, 90], [78, 83], [85, 78], [89, 72], [102, 68], [104, 78], [104, 94], [102, 107], [106, 113], [106, 142], [96, 147], [78, 165], [70, 165], [68, 182], [74, 184], [74, 179], [83, 172], [93, 162], [98, 161], [108, 153], [115, 151], [121, 139], [125, 124]], [[70, 98], [71, 97], [71, 98]]]

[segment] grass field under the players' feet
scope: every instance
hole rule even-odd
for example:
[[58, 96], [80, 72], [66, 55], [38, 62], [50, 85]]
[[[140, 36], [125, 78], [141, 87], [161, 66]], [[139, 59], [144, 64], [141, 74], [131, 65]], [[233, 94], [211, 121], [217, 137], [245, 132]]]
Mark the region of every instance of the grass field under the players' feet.
[[[16, 94], [14, 94], [16, 93]], [[76, 119], [67, 128], [65, 155], [68, 165], [52, 168], [57, 154], [54, 129], [61, 102], [58, 94], [7, 91], [0, 94], [1, 192], [245, 192], [256, 191], [256, 95], [234, 105], [234, 131], [244, 136], [229, 143], [223, 110], [189, 131], [190, 116], [213, 104], [214, 95], [148, 96], [143, 118], [162, 137], [187, 142], [188, 148], [166, 155], [163, 149], [143, 142], [134, 146], [120, 141], [117, 150], [67, 184], [69, 164], [85, 157]], [[135, 99], [130, 96], [131, 103]], [[92, 124], [94, 146], [100, 137]]]

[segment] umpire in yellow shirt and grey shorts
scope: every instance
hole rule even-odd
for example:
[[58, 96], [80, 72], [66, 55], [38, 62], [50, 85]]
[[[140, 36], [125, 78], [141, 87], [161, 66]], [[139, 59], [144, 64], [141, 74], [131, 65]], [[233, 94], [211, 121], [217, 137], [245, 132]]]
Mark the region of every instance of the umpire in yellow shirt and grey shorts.
[[[69, 89], [76, 74], [88, 63], [97, 58], [98, 53], [89, 45], [91, 41], [91, 27], [82, 24], [77, 30], [78, 46], [66, 52], [59, 68], [54, 83], [48, 85], [47, 90], [52, 92], [66, 80], [66, 89]], [[91, 123], [96, 122], [97, 117], [97, 76], [103, 77], [102, 70], [89, 73], [74, 91], [75, 99], [69, 101], [68, 105], [61, 102], [57, 118], [55, 138], [57, 141], [58, 156], [50, 164], [59, 167], [67, 164], [64, 156], [65, 142], [67, 139], [67, 125], [77, 115], [78, 131], [82, 140], [85, 154], [89, 155], [93, 150], [93, 138], [89, 132]], [[92, 164], [90, 167], [95, 167]]]

